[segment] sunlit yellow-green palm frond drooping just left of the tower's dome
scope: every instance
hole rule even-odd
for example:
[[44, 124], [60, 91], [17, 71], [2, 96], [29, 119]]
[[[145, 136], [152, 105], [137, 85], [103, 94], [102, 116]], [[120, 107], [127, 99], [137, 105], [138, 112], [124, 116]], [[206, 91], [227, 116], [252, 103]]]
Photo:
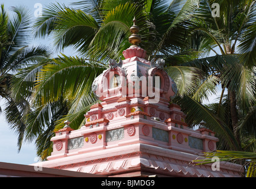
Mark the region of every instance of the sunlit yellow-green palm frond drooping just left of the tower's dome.
[[92, 82], [105, 69], [98, 63], [86, 63], [83, 58], [59, 57], [47, 64], [37, 74], [34, 99], [41, 98], [42, 105], [54, 102], [61, 95], [76, 99], [90, 93]]

